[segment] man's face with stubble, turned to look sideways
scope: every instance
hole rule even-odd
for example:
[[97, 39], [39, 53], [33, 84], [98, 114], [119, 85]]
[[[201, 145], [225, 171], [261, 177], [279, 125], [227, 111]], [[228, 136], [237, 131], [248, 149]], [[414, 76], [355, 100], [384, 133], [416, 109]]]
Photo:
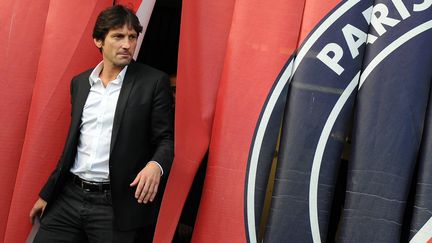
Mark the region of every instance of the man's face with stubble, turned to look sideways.
[[137, 32], [124, 25], [118, 29], [111, 29], [105, 41], [94, 40], [98, 48], [102, 48], [104, 66], [123, 68], [133, 57], [137, 44]]

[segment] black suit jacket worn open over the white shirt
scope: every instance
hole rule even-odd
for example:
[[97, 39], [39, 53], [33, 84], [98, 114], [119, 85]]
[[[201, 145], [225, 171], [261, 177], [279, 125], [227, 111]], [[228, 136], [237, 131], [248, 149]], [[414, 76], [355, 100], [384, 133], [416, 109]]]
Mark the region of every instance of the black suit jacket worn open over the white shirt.
[[[90, 91], [88, 70], [71, 82], [71, 124], [63, 153], [40, 192], [49, 205], [69, 176], [80, 136], [83, 107]], [[120, 230], [154, 224], [157, 219], [173, 148], [172, 96], [168, 77], [147, 65], [132, 62], [126, 71], [117, 102], [110, 145], [110, 183], [114, 222]], [[147, 162], [157, 161], [164, 170], [153, 202], [139, 204], [134, 180]]]

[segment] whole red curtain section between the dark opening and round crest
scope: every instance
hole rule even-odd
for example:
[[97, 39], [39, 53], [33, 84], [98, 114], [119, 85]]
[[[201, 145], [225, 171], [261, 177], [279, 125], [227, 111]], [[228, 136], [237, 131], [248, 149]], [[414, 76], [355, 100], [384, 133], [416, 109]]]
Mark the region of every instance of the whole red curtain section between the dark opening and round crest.
[[155, 242], [171, 241], [209, 144], [193, 241], [246, 240], [245, 171], [261, 108], [299, 41], [335, 5], [310, 2], [183, 1], [175, 160]]

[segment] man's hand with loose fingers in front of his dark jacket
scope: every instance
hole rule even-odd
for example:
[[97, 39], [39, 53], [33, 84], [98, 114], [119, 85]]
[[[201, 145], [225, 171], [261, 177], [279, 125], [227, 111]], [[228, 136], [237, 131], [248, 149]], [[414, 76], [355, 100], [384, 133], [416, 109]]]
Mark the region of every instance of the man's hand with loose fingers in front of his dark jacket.
[[149, 162], [138, 173], [135, 180], [130, 184], [131, 187], [137, 186], [135, 198], [138, 199], [138, 203], [153, 202], [158, 190], [160, 177], [161, 170], [155, 162]]

